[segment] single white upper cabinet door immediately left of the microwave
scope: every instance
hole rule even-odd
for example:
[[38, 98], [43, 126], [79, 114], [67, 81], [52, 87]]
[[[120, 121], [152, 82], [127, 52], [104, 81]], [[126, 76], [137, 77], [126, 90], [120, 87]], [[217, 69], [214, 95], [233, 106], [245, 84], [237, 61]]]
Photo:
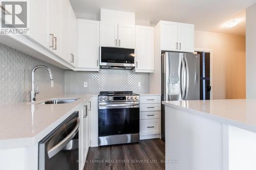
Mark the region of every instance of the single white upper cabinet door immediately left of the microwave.
[[78, 19], [79, 68], [99, 68], [99, 21]]

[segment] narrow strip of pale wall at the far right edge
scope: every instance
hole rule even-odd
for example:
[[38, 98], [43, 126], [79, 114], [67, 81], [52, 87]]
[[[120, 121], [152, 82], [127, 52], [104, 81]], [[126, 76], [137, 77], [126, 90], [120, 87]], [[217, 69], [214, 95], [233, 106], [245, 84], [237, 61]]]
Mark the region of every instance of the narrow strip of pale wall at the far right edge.
[[246, 98], [256, 98], [256, 4], [246, 9]]

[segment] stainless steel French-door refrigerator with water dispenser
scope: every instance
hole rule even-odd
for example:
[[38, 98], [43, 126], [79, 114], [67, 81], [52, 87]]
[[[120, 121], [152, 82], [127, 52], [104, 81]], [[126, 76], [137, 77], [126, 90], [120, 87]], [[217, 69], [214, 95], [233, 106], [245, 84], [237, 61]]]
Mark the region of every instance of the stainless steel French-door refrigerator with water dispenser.
[[[200, 100], [200, 56], [166, 52], [161, 57], [162, 101]], [[165, 107], [161, 115], [162, 139], [165, 140]]]

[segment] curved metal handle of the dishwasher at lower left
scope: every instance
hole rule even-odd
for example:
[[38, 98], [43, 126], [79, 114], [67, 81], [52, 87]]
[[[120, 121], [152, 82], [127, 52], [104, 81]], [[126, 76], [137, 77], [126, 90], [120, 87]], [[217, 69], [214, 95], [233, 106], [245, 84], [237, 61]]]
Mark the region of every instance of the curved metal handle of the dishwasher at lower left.
[[58, 144], [56, 144], [54, 147], [52, 147], [48, 151], [49, 158], [52, 158], [54, 155], [56, 155], [59, 151], [61, 151], [71, 141], [71, 139], [73, 139], [73, 137], [78, 132], [79, 125], [80, 125], [80, 119], [77, 117], [76, 118], [76, 126], [72, 130], [72, 132], [70, 132], [70, 134], [68, 134], [63, 140], [61, 140]]

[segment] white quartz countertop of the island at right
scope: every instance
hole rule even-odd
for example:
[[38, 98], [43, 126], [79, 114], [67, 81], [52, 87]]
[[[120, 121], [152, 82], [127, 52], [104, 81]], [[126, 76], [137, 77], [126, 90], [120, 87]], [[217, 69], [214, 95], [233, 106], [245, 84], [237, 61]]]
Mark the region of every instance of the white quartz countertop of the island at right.
[[162, 104], [256, 133], [256, 99], [163, 101]]

